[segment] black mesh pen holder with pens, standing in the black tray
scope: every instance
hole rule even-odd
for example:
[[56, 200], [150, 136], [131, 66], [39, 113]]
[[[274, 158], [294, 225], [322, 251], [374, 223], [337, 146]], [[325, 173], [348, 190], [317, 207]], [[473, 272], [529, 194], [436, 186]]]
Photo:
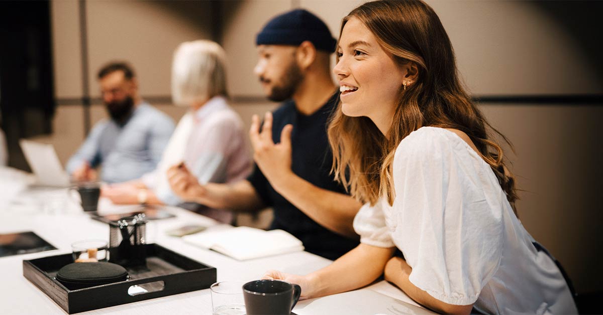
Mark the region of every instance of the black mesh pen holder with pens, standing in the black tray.
[[147, 219], [143, 213], [109, 222], [109, 262], [124, 267], [145, 266], [145, 232]]

